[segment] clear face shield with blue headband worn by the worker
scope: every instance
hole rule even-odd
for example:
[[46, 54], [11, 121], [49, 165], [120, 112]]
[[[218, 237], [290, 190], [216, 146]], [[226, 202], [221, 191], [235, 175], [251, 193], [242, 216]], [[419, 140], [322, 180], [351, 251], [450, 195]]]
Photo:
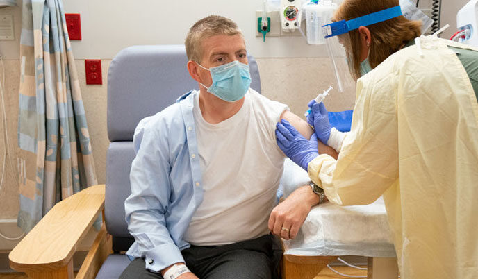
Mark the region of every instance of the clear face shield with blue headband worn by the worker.
[[360, 26], [384, 22], [400, 15], [402, 15], [402, 9], [400, 6], [395, 6], [364, 15], [363, 17], [347, 21], [340, 20], [339, 22], [332, 22], [322, 26], [327, 51], [331, 58], [332, 68], [336, 74], [336, 81], [340, 92], [343, 92], [345, 81], [350, 78], [350, 74], [354, 69], [349, 31], [358, 29]]

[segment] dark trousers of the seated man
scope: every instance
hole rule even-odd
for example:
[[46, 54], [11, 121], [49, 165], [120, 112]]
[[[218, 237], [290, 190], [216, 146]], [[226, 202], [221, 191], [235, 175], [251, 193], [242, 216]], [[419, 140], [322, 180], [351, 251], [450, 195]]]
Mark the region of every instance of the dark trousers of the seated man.
[[[222, 246], [191, 246], [181, 254], [186, 266], [201, 279], [280, 278], [282, 248], [279, 239], [273, 235]], [[145, 259], [136, 258], [119, 278], [163, 279], [163, 276], [147, 270]]]

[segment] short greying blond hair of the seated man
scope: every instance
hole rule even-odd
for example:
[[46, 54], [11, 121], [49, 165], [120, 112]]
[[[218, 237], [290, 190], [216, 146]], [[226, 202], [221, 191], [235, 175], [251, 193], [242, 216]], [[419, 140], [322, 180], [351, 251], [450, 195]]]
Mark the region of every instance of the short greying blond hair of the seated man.
[[221, 17], [220, 15], [210, 15], [199, 19], [189, 30], [186, 41], [186, 55], [189, 60], [200, 63], [202, 60], [203, 49], [202, 41], [206, 37], [215, 35], [242, 35], [238, 25], [231, 19]]

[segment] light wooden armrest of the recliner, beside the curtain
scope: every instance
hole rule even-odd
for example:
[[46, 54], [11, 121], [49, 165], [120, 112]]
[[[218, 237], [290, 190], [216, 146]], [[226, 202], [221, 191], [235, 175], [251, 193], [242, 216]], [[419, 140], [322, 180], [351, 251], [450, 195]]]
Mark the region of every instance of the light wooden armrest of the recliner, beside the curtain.
[[17, 271], [54, 271], [72, 265], [76, 246], [104, 208], [105, 185], [94, 185], [57, 203], [8, 258]]

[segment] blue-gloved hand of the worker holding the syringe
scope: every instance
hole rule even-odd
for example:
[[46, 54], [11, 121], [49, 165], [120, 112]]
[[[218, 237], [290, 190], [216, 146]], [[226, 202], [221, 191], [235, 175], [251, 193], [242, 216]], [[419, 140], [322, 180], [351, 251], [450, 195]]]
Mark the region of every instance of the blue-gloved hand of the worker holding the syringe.
[[307, 123], [313, 126], [317, 138], [327, 145], [332, 129], [329, 122], [329, 112], [322, 102], [316, 103], [315, 100], [312, 100], [308, 103], [308, 106], [311, 108], [311, 113], [307, 115]]

